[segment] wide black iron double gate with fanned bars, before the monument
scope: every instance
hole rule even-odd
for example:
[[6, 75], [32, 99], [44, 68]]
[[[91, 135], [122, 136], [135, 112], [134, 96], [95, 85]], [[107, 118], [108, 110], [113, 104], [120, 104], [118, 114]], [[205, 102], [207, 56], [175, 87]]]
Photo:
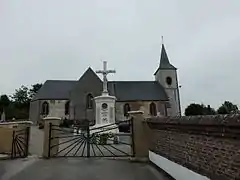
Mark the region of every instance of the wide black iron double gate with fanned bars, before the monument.
[[[129, 132], [119, 132], [128, 124]], [[54, 134], [54, 136], [53, 136]], [[85, 123], [75, 128], [50, 124], [49, 158], [51, 157], [130, 157], [134, 156], [132, 120], [92, 128]]]

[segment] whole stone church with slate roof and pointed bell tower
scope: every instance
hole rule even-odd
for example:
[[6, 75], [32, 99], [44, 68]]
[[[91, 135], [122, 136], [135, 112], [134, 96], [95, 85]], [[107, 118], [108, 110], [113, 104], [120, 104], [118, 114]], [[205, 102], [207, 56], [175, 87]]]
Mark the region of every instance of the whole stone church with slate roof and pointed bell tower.
[[[116, 97], [116, 121], [135, 110], [146, 116], [181, 115], [177, 68], [170, 63], [164, 44], [154, 76], [152, 81], [107, 82], [109, 94]], [[30, 103], [29, 118], [34, 123], [47, 116], [95, 121], [94, 97], [102, 90], [103, 81], [90, 67], [79, 80], [47, 80]]]

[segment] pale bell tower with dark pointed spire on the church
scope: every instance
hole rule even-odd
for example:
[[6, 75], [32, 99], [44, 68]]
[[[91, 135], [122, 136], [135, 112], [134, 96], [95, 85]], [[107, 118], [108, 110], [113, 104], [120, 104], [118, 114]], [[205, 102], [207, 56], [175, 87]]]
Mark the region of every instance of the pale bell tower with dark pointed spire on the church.
[[167, 109], [168, 116], [180, 116], [180, 96], [177, 78], [177, 68], [173, 66], [169, 59], [164, 44], [162, 44], [160, 64], [154, 73], [155, 81], [158, 81], [165, 89], [170, 107]]

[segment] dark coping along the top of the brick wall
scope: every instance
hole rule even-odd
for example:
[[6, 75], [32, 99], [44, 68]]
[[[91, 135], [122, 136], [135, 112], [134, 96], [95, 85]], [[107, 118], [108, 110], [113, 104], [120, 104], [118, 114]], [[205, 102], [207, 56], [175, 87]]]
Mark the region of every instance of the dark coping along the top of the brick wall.
[[146, 123], [155, 130], [240, 139], [240, 114], [152, 117]]

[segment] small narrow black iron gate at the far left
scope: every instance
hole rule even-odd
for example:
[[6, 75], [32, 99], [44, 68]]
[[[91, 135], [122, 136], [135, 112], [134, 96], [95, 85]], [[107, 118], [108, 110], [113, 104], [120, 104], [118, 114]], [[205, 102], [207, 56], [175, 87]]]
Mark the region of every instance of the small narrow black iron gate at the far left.
[[30, 127], [14, 130], [12, 135], [11, 158], [25, 158], [28, 156]]

